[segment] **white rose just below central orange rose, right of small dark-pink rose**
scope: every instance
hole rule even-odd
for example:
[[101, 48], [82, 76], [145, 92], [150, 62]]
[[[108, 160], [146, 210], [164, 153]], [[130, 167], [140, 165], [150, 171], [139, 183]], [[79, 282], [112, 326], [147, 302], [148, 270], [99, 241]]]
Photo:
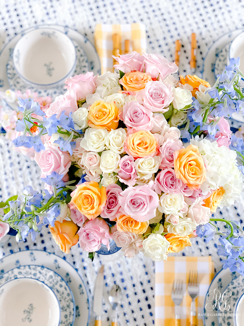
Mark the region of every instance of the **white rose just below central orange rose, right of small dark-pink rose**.
[[159, 165], [161, 164], [161, 157], [142, 157], [135, 160], [135, 169], [140, 179], [150, 179], [153, 173], [158, 171]]

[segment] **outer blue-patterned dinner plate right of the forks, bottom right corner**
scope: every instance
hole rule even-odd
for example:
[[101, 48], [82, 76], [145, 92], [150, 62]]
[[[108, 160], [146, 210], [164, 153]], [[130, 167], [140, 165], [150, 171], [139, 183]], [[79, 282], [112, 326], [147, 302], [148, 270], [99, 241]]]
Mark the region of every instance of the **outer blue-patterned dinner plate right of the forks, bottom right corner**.
[[[213, 278], [209, 289], [207, 297], [204, 301], [204, 317], [203, 317], [203, 324], [204, 326], [218, 326], [218, 309], [217, 307], [213, 309], [217, 296], [221, 296], [224, 292], [226, 286], [239, 275], [239, 273], [233, 272], [231, 273], [229, 269], [222, 269], [218, 274], [215, 275]], [[219, 291], [219, 293], [216, 291]], [[215, 292], [214, 292], [215, 290]]]

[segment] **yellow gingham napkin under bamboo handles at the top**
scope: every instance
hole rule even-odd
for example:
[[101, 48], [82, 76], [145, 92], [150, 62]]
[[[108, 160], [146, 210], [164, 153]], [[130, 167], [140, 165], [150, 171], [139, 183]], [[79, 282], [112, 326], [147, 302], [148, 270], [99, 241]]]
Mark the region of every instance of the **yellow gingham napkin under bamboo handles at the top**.
[[120, 53], [124, 54], [125, 40], [130, 40], [130, 52], [146, 52], [146, 30], [142, 23], [133, 24], [97, 24], [95, 46], [100, 57], [101, 72], [114, 72], [112, 35], [120, 36]]

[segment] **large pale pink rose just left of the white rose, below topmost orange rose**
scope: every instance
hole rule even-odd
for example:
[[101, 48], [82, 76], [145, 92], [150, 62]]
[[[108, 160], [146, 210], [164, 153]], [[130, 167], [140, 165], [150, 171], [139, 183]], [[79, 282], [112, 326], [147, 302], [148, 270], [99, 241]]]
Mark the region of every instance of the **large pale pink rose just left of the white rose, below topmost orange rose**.
[[136, 94], [137, 100], [152, 112], [167, 112], [173, 101], [172, 85], [161, 81], [147, 82], [146, 87]]

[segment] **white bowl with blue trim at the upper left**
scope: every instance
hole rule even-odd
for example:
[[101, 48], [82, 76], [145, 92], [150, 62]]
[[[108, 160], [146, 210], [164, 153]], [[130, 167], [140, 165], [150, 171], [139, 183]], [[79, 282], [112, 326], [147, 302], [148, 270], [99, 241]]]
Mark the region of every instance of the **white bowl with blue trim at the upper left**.
[[31, 86], [54, 88], [63, 84], [75, 71], [75, 45], [59, 30], [37, 28], [24, 34], [16, 43], [13, 65]]

